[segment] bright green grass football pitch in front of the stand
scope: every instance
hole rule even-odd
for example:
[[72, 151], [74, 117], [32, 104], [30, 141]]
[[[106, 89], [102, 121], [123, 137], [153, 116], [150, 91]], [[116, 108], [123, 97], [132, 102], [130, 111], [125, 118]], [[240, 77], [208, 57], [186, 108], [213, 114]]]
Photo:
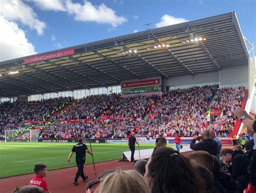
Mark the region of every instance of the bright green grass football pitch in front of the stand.
[[[69, 153], [75, 143], [45, 142], [2, 142], [0, 144], [0, 178], [33, 173], [36, 163], [44, 163], [48, 170], [76, 166], [75, 154], [68, 163]], [[90, 149], [89, 144], [86, 144]], [[172, 145], [169, 145], [172, 146]], [[140, 144], [140, 149], [153, 148], [154, 144]], [[138, 146], [136, 146], [138, 149]], [[122, 158], [123, 151], [129, 151], [127, 144], [92, 143], [95, 162]], [[90, 155], [86, 163], [92, 163]]]

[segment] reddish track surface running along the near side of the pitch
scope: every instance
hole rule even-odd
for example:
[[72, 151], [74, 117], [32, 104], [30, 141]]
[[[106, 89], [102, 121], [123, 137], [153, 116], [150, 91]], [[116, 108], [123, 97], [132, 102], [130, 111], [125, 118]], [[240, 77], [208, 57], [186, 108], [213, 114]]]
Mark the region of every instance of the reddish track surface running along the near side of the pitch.
[[[117, 160], [100, 162], [95, 164], [96, 175], [94, 174], [93, 165], [86, 165], [84, 171], [89, 178], [86, 182], [82, 181], [79, 177], [79, 185], [73, 185], [72, 181], [75, 177], [77, 167], [70, 167], [64, 169], [56, 169], [48, 171], [45, 180], [48, 184], [48, 188], [52, 193], [62, 193], [62, 192], [76, 192], [85, 193], [86, 183], [98, 177], [100, 173], [107, 169], [122, 169], [129, 170], [133, 169], [133, 162], [117, 162]], [[0, 179], [0, 192], [10, 193], [18, 185], [29, 184], [30, 180], [35, 176], [35, 174], [19, 175], [14, 177], [6, 177]]]

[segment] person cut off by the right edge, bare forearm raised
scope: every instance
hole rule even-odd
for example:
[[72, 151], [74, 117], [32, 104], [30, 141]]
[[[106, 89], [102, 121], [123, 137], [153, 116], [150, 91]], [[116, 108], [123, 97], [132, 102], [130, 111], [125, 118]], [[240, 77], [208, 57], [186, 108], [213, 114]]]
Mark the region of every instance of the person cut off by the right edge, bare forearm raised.
[[254, 152], [251, 160], [250, 181], [254, 186], [254, 191], [256, 191], [256, 120], [253, 120], [248, 113], [240, 107], [235, 109], [235, 114], [241, 119], [242, 123], [248, 128], [248, 130], [254, 132]]

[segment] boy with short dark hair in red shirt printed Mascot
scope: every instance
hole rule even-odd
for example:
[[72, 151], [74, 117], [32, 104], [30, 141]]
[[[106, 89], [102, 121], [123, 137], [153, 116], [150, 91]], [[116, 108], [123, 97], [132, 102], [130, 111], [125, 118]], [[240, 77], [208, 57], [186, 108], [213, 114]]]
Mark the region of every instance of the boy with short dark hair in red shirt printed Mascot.
[[44, 193], [51, 193], [48, 189], [46, 181], [43, 179], [43, 177], [45, 177], [47, 173], [46, 166], [43, 163], [38, 163], [34, 167], [34, 171], [36, 173], [36, 176], [29, 182], [29, 184], [43, 188]]

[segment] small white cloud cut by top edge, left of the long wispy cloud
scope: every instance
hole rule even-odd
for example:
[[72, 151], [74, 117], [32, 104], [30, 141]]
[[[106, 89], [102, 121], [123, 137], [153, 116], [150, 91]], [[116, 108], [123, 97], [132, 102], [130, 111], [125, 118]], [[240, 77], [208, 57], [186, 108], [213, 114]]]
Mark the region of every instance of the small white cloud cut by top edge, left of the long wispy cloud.
[[65, 11], [62, 0], [31, 0], [42, 10]]

